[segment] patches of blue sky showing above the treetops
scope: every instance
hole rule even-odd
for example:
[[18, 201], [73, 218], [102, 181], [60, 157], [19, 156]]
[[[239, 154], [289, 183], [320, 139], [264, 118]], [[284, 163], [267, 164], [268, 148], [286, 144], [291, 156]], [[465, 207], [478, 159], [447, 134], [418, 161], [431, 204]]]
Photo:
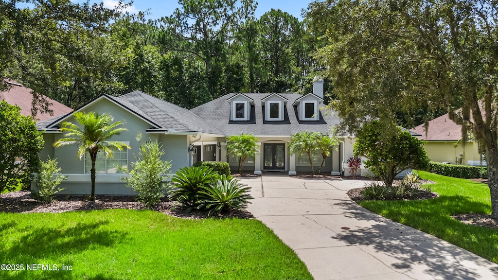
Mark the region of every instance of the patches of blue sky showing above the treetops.
[[[97, 2], [97, 1], [95, 1]], [[118, 0], [103, 0], [108, 7], [113, 7], [118, 3]], [[126, 0], [125, 0], [126, 2]], [[256, 18], [259, 18], [263, 13], [271, 8], [281, 9], [286, 11], [299, 20], [302, 20], [301, 9], [306, 8], [310, 0], [260, 0], [256, 9]], [[175, 8], [179, 7], [178, 0], [135, 0], [131, 7], [127, 10], [130, 12], [145, 11], [150, 8], [151, 19], [160, 18], [161, 16], [169, 16]]]

